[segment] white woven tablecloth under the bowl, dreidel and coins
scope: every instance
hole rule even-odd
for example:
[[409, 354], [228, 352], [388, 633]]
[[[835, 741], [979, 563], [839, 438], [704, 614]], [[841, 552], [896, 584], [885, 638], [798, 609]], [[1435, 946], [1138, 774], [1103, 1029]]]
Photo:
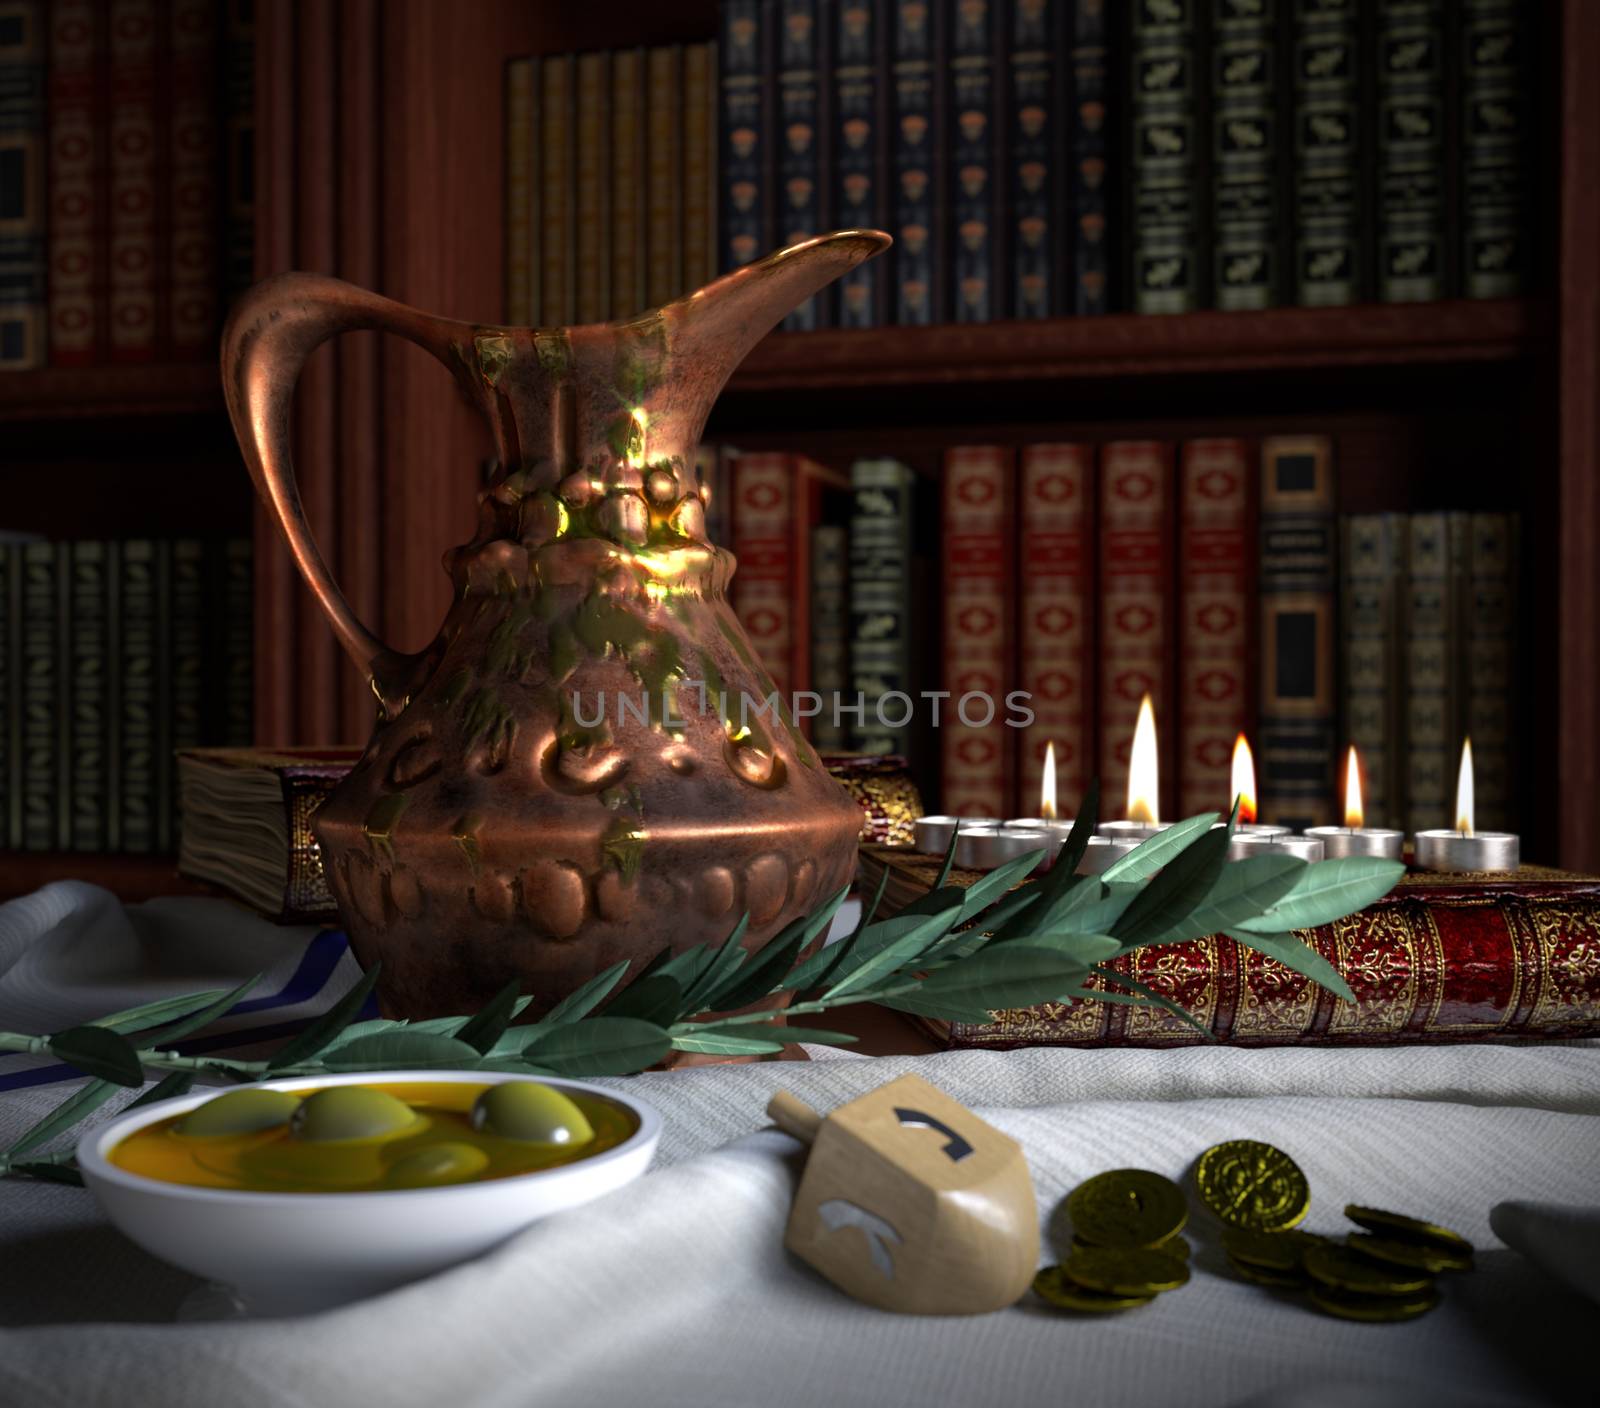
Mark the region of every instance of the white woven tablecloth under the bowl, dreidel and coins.
[[[261, 966], [277, 944], [278, 971], [262, 984], [277, 990], [304, 970], [314, 939], [210, 901], [147, 906], [133, 922], [88, 886], [18, 904], [34, 909], [0, 907], [0, 1026], [11, 1029], [29, 1010], [72, 1006], [48, 998], [40, 973], [72, 968], [62, 952], [46, 963], [48, 950], [96, 952], [96, 928], [123, 944], [118, 962], [144, 971], [147, 987], [152, 973], [170, 981], [178, 970], [190, 982], [206, 970], [214, 986], [237, 955]], [[46, 910], [56, 918], [38, 928]], [[118, 926], [133, 930], [131, 947]], [[179, 938], [168, 952], [170, 934]], [[210, 950], [192, 947], [198, 934]], [[27, 981], [13, 982], [24, 955]], [[333, 965], [320, 1002], [349, 971]], [[96, 982], [114, 979], [106, 968]], [[0, 1082], [13, 1067], [0, 1062]], [[1206, 1146], [1258, 1138], [1306, 1170], [1307, 1227], [1341, 1230], [1346, 1202], [1413, 1211], [1472, 1238], [1478, 1269], [1448, 1278], [1443, 1306], [1422, 1320], [1330, 1320], [1232, 1278], [1202, 1214], [1190, 1285], [1126, 1315], [1078, 1320], [1029, 1302], [971, 1318], [861, 1307], [782, 1251], [802, 1155], [762, 1131], [762, 1110], [781, 1086], [826, 1110], [912, 1069], [1022, 1142], [1042, 1214], [1101, 1170], [1182, 1178]], [[0, 1094], [0, 1141], [67, 1088]], [[632, 1088], [666, 1117], [659, 1171], [643, 1182], [474, 1264], [293, 1322], [173, 1325], [195, 1283], [122, 1240], [88, 1194], [0, 1182], [0, 1322], [16, 1326], [0, 1330], [0, 1403], [1323, 1408], [1587, 1402], [1592, 1390], [1576, 1386], [1597, 1382], [1600, 1310], [1560, 1278], [1594, 1266], [1594, 1254], [1571, 1254], [1574, 1238], [1594, 1237], [1594, 1214], [1586, 1224], [1579, 1211], [1502, 1210], [1496, 1226], [1538, 1262], [1490, 1224], [1506, 1200], [1600, 1203], [1592, 1045], [974, 1051], [694, 1069]]]

